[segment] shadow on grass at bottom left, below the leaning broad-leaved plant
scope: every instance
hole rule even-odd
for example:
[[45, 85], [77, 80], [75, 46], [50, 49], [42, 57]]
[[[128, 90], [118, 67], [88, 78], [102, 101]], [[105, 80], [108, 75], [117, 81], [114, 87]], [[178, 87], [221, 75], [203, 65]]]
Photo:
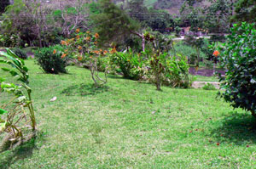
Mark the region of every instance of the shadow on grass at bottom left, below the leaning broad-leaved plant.
[[9, 166], [15, 163], [15, 161], [26, 161], [26, 158], [32, 156], [33, 150], [38, 149], [36, 145], [38, 139], [43, 137], [44, 133], [39, 132], [36, 138], [32, 138], [25, 144], [21, 144], [20, 147], [17, 147], [16, 149], [9, 150], [10, 152], [6, 155], [6, 158], [3, 161], [0, 161], [0, 168], [8, 169]]

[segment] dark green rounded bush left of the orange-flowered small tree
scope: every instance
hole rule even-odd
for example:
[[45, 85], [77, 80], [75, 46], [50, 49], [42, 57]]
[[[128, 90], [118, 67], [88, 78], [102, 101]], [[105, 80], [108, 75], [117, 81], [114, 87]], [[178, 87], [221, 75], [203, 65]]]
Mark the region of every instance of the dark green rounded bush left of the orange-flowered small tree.
[[67, 57], [61, 59], [63, 48], [59, 45], [49, 48], [39, 48], [35, 52], [35, 59], [45, 73], [67, 73]]

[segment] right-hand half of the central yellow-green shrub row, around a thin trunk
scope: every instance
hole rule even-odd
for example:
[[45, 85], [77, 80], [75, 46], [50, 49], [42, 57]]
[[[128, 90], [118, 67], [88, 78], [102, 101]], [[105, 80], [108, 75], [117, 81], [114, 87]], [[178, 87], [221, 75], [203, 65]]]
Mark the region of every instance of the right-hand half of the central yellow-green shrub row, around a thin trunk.
[[[147, 53], [144, 53], [147, 54]], [[188, 60], [183, 55], [177, 54], [170, 56], [167, 53], [147, 54], [149, 63], [145, 72], [148, 81], [156, 85], [157, 90], [160, 86], [170, 87], [190, 87]]]

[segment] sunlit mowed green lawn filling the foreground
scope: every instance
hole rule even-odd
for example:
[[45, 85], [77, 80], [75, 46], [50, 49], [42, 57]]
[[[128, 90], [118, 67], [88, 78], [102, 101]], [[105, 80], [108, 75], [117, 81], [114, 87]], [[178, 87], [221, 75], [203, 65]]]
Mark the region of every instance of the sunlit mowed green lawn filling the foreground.
[[[217, 99], [217, 91], [158, 92], [110, 75], [107, 87], [96, 89], [83, 68], [49, 75], [32, 60], [26, 65], [39, 134], [0, 154], [1, 169], [256, 166], [256, 121]], [[1, 71], [1, 76], [8, 75]]]

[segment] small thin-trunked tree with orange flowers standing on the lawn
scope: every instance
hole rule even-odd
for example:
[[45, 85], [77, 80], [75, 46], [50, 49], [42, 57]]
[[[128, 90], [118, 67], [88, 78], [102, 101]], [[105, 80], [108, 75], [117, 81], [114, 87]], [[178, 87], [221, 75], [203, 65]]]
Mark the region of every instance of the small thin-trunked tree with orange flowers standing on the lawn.
[[75, 37], [61, 41], [61, 45], [66, 48], [61, 58], [65, 59], [67, 55], [70, 55], [84, 64], [85, 67], [88, 67], [96, 87], [102, 86], [108, 82], [108, 69], [105, 68], [104, 77], [99, 76], [97, 66], [99, 59], [108, 54], [108, 51], [103, 51], [97, 47], [99, 37], [98, 33], [92, 34], [90, 31], [80, 32], [80, 30], [77, 29]]

